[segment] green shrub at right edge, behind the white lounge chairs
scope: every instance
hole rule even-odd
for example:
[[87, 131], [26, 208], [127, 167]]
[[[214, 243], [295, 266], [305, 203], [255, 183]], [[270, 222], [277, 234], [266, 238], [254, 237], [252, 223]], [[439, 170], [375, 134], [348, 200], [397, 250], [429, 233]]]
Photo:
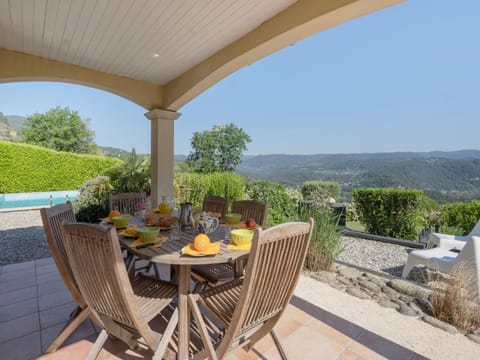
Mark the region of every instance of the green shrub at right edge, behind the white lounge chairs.
[[442, 211], [442, 232], [448, 227], [456, 235], [468, 234], [480, 219], [480, 201], [446, 205]]

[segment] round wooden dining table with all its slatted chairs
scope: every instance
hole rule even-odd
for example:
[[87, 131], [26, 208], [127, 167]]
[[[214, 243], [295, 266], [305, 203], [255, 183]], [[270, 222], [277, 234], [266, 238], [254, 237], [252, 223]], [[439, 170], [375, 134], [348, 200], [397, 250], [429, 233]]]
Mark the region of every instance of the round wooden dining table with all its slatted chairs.
[[[113, 195], [110, 209], [132, 214], [145, 200], [143, 193]], [[206, 196], [200, 213], [215, 218], [214, 226], [197, 216], [193, 226], [172, 223], [175, 231], [160, 228], [148, 240], [126, 231], [140, 232], [148, 217], [131, 216], [125, 229], [77, 223], [69, 203], [42, 209], [52, 256], [77, 303], [46, 352], [90, 317], [101, 332], [88, 359], [97, 358], [109, 337], [133, 351], [147, 348], [153, 359], [221, 359], [268, 334], [286, 359], [274, 326], [297, 284], [313, 220], [266, 228], [267, 204], [242, 200], [229, 208], [227, 199]], [[250, 239], [226, 240], [235, 235], [223, 223], [231, 214], [239, 214], [238, 227], [252, 219]], [[203, 248], [201, 241], [207, 241]], [[139, 259], [148, 265], [138, 267]], [[170, 268], [170, 280], [160, 279], [159, 264]]]

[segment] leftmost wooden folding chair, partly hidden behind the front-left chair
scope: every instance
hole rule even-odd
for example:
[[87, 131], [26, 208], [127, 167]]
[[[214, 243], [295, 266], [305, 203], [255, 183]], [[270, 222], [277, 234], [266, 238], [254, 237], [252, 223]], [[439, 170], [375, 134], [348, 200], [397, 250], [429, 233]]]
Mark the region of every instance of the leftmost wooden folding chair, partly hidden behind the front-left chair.
[[68, 262], [67, 253], [64, 246], [62, 225], [64, 223], [75, 222], [75, 214], [73, 213], [72, 204], [60, 204], [51, 208], [40, 209], [43, 227], [47, 237], [48, 245], [52, 253], [53, 260], [57, 265], [58, 272], [70, 291], [73, 299], [77, 303], [77, 307], [70, 314], [70, 318], [64, 328], [56, 336], [53, 342], [45, 350], [46, 353], [55, 352], [63, 342], [83, 323], [88, 316], [100, 325], [100, 321], [92, 316], [85, 300], [83, 299], [77, 283], [73, 278], [72, 269]]

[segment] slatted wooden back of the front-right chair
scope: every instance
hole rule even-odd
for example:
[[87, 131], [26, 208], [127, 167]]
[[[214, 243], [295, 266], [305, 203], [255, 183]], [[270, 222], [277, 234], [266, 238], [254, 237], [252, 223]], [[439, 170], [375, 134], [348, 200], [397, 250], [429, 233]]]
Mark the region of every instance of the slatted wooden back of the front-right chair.
[[217, 348], [219, 358], [232, 343], [249, 339], [249, 346], [253, 346], [273, 329], [297, 285], [312, 228], [310, 219], [307, 223], [285, 223], [265, 231], [255, 229], [238, 305]]

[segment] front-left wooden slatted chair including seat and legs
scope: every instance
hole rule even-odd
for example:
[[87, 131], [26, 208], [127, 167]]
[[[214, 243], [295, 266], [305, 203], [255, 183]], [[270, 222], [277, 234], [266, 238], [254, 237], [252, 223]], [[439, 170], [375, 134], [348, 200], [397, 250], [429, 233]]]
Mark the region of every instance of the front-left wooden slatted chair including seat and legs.
[[103, 323], [87, 359], [97, 357], [108, 335], [130, 348], [136, 348], [143, 338], [154, 352], [153, 359], [161, 359], [178, 322], [177, 309], [163, 334], [152, 330], [148, 322], [172, 303], [177, 287], [143, 274], [130, 283], [114, 228], [76, 223], [64, 225], [63, 230], [80, 292]]

